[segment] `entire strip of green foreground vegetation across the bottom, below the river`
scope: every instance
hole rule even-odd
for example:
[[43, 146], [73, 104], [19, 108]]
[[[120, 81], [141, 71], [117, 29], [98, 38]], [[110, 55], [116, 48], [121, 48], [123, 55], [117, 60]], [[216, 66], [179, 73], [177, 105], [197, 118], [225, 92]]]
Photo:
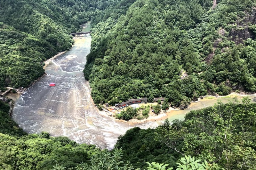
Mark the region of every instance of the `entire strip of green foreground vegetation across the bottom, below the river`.
[[256, 104], [250, 104], [248, 98], [242, 101], [219, 102], [213, 107], [193, 110], [184, 121], [174, 120], [170, 124], [166, 119], [156, 129], [130, 129], [119, 137], [119, 149], [112, 151], [79, 145], [67, 137], [50, 137], [47, 132], [27, 134], [9, 117], [9, 104], [0, 102], [0, 169], [114, 170], [117, 166], [126, 170], [157, 170], [161, 166], [161, 170], [253, 170]]

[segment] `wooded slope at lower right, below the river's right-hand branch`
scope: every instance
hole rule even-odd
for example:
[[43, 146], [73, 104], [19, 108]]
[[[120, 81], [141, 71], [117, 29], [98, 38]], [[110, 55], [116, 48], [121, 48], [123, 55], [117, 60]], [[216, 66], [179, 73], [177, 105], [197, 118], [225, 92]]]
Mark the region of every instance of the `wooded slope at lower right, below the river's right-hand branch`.
[[244, 98], [228, 104], [192, 110], [184, 121], [165, 120], [163, 126], [143, 130], [133, 128], [117, 141], [123, 148], [124, 159], [137, 167], [147, 167], [145, 161], [157, 161], [177, 167], [184, 155], [228, 170], [255, 169], [256, 103]]

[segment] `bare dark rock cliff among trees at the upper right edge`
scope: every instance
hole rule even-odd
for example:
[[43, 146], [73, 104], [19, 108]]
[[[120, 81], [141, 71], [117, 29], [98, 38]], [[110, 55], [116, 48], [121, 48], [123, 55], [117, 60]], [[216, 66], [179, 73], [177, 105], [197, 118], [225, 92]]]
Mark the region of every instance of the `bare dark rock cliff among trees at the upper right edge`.
[[245, 17], [239, 18], [236, 20], [235, 28], [232, 28], [231, 32], [229, 33], [229, 37], [232, 41], [238, 44], [243, 44], [243, 40], [248, 38], [255, 38], [254, 32], [250, 29], [250, 25], [256, 23], [256, 8], [253, 7], [251, 14], [248, 12], [244, 12]]

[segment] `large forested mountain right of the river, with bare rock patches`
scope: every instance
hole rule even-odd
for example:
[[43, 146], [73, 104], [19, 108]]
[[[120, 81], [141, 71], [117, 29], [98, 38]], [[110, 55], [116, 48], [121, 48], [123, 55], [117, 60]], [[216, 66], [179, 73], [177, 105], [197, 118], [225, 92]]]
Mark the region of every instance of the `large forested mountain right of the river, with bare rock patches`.
[[94, 102], [163, 96], [177, 107], [207, 94], [255, 91], [254, 6], [254, 0], [127, 0], [109, 7], [92, 19], [84, 69]]

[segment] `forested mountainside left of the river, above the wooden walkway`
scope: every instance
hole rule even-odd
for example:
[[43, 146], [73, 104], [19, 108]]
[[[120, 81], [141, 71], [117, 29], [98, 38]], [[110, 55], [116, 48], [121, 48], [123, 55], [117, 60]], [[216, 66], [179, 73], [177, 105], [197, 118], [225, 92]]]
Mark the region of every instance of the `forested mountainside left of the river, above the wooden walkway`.
[[1, 0], [0, 88], [26, 87], [44, 73], [43, 61], [68, 50], [70, 32], [111, 0]]

